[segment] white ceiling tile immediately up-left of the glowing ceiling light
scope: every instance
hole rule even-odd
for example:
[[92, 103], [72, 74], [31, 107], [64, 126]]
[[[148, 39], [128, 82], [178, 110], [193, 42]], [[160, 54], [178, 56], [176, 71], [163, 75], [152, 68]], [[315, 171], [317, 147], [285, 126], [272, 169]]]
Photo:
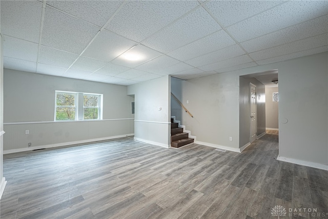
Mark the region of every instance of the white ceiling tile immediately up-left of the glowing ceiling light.
[[83, 53], [84, 56], [96, 58], [106, 62], [112, 61], [118, 55], [124, 53], [136, 43], [116, 33], [101, 31], [90, 46]]

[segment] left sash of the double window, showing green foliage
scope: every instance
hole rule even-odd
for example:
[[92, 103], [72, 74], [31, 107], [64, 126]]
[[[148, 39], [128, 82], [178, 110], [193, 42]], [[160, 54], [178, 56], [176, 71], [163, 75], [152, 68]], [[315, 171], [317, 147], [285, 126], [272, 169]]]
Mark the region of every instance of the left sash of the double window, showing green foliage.
[[76, 93], [56, 92], [55, 120], [76, 120]]

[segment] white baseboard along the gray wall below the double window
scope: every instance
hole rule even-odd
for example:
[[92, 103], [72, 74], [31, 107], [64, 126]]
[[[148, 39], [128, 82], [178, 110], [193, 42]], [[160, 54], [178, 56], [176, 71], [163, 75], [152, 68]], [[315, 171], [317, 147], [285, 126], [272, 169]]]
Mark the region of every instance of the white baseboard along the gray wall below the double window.
[[54, 148], [54, 147], [61, 147], [61, 146], [85, 144], [85, 143], [92, 143], [92, 142], [98, 142], [98, 141], [105, 141], [105, 140], [111, 140], [111, 139], [119, 138], [119, 137], [126, 137], [127, 135], [134, 135], [134, 133], [115, 135], [115, 136], [109, 136], [109, 137], [93, 138], [93, 139], [76, 141], [76, 142], [64, 142], [64, 143], [58, 143], [58, 144], [52, 144], [52, 145], [34, 146], [34, 147], [30, 147], [30, 148], [18, 148], [18, 149], [4, 150], [4, 154], [17, 153], [17, 152], [23, 152], [23, 151], [32, 151], [32, 150], [44, 149], [44, 148]]

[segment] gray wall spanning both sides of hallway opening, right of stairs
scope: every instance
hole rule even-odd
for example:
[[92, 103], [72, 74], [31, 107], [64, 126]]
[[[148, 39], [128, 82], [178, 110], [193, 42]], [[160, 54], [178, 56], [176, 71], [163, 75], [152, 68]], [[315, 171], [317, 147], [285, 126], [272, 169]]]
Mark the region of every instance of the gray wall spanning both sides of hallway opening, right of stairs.
[[[239, 143], [239, 76], [278, 69], [279, 157], [327, 169], [327, 54], [183, 81], [182, 102], [189, 100], [187, 108], [195, 118], [182, 113], [181, 123], [191, 130], [197, 141], [207, 145], [242, 147], [244, 141]], [[229, 136], [233, 137], [232, 142]]]

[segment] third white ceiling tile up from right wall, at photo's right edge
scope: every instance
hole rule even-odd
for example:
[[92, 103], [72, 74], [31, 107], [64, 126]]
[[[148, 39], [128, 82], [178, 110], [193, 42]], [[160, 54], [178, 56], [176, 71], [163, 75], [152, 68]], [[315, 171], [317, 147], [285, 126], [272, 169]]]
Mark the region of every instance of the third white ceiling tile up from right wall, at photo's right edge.
[[241, 46], [248, 52], [255, 52], [326, 32], [328, 32], [328, 16], [324, 15], [311, 21], [245, 41], [241, 43]]

